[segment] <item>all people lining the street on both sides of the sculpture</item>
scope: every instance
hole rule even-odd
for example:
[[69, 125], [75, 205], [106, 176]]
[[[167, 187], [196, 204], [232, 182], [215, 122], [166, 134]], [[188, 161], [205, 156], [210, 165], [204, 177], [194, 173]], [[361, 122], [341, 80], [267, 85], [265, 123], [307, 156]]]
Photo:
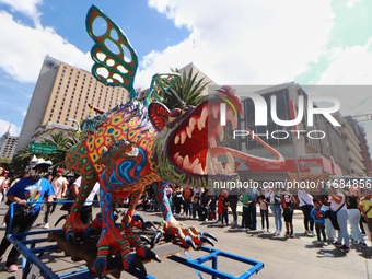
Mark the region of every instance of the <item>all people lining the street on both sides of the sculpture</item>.
[[[63, 168], [57, 168], [54, 175], [50, 175], [48, 173], [50, 166], [50, 161], [35, 158], [27, 170], [15, 177], [9, 177], [5, 168], [0, 166], [0, 200], [7, 200], [7, 206], [16, 202], [11, 228], [9, 223], [10, 210], [8, 210], [1, 229], [8, 229], [9, 233], [27, 232], [42, 212], [43, 207], [40, 204], [32, 202], [43, 200], [47, 202], [44, 207], [43, 225], [44, 229], [49, 229], [49, 216], [55, 212], [57, 206], [53, 201], [75, 199], [81, 177], [74, 176], [67, 179], [63, 176]], [[136, 209], [149, 212], [160, 210], [155, 187], [156, 184], [146, 187]], [[91, 200], [96, 199], [98, 191], [100, 184], [96, 183], [81, 211], [80, 218], [83, 223], [90, 223], [93, 219]], [[235, 193], [232, 195], [228, 190], [222, 190], [220, 195], [214, 193], [210, 193], [208, 188], [183, 187], [174, 184], [165, 186], [165, 196], [175, 217], [216, 221], [222, 226], [231, 225], [248, 232], [257, 230], [257, 212], [259, 212], [260, 232], [271, 233], [269, 222], [269, 213], [271, 213], [275, 220], [272, 233], [282, 235], [284, 229], [286, 237], [294, 237], [293, 212], [295, 208], [299, 208], [303, 213], [304, 233], [316, 235], [318, 244], [322, 246], [327, 245], [327, 242], [330, 241], [337, 248], [348, 252], [350, 244], [368, 247], [364, 237], [372, 241], [371, 189], [361, 191], [360, 188], [354, 187], [345, 190], [340, 189], [337, 184], [332, 184], [328, 185], [327, 193], [316, 195], [315, 198], [309, 188], [299, 189], [297, 193], [278, 188], [246, 188], [239, 195]], [[118, 207], [128, 207], [129, 201], [130, 197], [127, 200], [117, 200], [115, 204]], [[69, 211], [71, 205], [65, 204], [60, 209]], [[237, 205], [242, 206], [240, 224]], [[230, 212], [232, 217], [230, 217]], [[229, 221], [230, 218], [232, 218], [232, 222]], [[349, 231], [351, 231], [351, 235], [349, 235]], [[3, 237], [0, 243], [0, 261], [10, 244]], [[19, 255], [20, 253], [14, 247], [9, 253], [5, 264], [9, 272], [18, 270]]]

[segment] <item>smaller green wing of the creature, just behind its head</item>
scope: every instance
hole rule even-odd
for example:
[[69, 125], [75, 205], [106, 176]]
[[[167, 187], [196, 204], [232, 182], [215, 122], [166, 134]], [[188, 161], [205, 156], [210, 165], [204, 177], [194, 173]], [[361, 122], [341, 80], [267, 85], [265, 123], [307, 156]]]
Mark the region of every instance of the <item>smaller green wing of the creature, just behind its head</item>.
[[181, 78], [179, 73], [155, 73], [152, 75], [149, 92], [143, 105], [148, 106], [151, 102], [163, 102], [164, 93], [171, 89]]

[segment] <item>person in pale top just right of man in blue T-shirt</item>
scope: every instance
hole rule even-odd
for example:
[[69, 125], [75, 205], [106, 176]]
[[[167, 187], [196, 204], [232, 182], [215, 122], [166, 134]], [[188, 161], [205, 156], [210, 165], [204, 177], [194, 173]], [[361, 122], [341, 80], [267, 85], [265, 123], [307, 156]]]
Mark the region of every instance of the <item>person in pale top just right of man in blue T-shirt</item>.
[[[59, 200], [60, 198], [65, 197], [67, 185], [69, 184], [68, 181], [62, 176], [65, 173], [63, 168], [58, 168], [56, 172], [55, 178], [51, 181], [51, 187], [55, 190], [54, 200]], [[47, 210], [45, 211], [44, 217], [44, 229], [49, 229], [49, 214], [55, 212], [57, 204], [51, 204], [47, 206]]]

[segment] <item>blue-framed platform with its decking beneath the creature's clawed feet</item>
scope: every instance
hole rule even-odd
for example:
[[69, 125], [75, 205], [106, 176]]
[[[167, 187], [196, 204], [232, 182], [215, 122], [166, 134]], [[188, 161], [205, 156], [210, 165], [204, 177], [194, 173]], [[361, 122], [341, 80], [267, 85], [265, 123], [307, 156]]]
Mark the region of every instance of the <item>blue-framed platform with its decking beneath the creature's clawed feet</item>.
[[[23, 279], [38, 278], [38, 276], [50, 279], [97, 278], [97, 276], [92, 272], [92, 267], [97, 254], [96, 243], [98, 241], [98, 236], [77, 236], [77, 243], [73, 245], [72, 243], [65, 240], [65, 233], [62, 230], [43, 230], [7, 235], [8, 240], [18, 251], [20, 251], [24, 257], [22, 275]], [[155, 245], [153, 252], [161, 259], [167, 258], [179, 265], [195, 269], [199, 278], [204, 278], [200, 272], [210, 275], [213, 279], [252, 278], [264, 268], [263, 263], [218, 251], [209, 246], [199, 246], [197, 248], [205, 253], [200, 253], [202, 255], [196, 259], [191, 259], [188, 254], [188, 248], [182, 247], [175, 240], [161, 242], [160, 244]], [[58, 270], [55, 268], [55, 270], [53, 270], [44, 263], [45, 260], [43, 261], [43, 256], [50, 253], [56, 253], [58, 255], [56, 257], [57, 260], [63, 260], [60, 254], [65, 253], [66, 258], [70, 257], [72, 261], [77, 263], [77, 266], [85, 261], [84, 265], [86, 265], [86, 268], [77, 269], [67, 274], [62, 274], [66, 271], [63, 271], [61, 268]], [[184, 255], [186, 255], [186, 257]], [[244, 267], [242, 270], [246, 271], [236, 277], [219, 270], [218, 263], [221, 258], [222, 260], [224, 260], [224, 258], [229, 258], [230, 260], [242, 263], [242, 267], [246, 266], [246, 269]], [[70, 259], [68, 260], [70, 261]], [[152, 259], [142, 259], [142, 261], [143, 264], [147, 264], [152, 261]], [[159, 265], [161, 265], [161, 263]], [[195, 272], [191, 269], [189, 271]], [[177, 270], [176, 265], [175, 270]], [[115, 278], [120, 278], [121, 271], [126, 271], [137, 278], [156, 278], [151, 275], [143, 276], [138, 270], [124, 270], [119, 257], [108, 258], [105, 275], [112, 275]], [[171, 270], [170, 272], [170, 275], [172, 275]]]

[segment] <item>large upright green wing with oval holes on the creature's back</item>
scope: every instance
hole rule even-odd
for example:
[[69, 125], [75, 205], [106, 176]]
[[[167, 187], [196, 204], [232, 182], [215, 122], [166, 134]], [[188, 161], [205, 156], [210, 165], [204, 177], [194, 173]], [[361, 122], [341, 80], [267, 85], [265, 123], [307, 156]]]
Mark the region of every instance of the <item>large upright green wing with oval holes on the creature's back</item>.
[[[96, 35], [93, 24], [100, 18], [106, 22], [106, 32]], [[124, 32], [95, 5], [92, 5], [86, 14], [85, 26], [95, 43], [91, 49], [95, 62], [92, 74], [105, 85], [124, 86], [128, 90], [129, 98], [135, 98], [137, 92], [133, 82], [138, 57]]]

